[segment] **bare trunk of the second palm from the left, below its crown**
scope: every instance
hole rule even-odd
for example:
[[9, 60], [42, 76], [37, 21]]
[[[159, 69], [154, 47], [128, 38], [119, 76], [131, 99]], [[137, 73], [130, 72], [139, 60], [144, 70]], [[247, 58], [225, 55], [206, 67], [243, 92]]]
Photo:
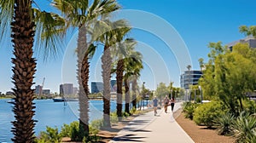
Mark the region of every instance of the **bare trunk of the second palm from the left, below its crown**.
[[[79, 27], [78, 38], [78, 81], [79, 81], [79, 130], [82, 136], [89, 134], [89, 61], [86, 41], [86, 27]], [[82, 138], [83, 139], [83, 138]]]

